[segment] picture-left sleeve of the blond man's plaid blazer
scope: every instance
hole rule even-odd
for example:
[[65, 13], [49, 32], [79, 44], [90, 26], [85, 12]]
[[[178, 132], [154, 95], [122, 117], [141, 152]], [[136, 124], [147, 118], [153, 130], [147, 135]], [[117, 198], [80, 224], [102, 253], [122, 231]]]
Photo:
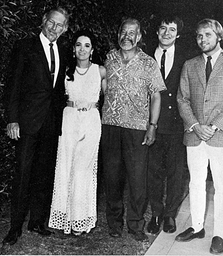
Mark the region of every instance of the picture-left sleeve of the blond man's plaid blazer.
[[185, 132], [189, 132], [192, 125], [199, 123], [193, 114], [190, 101], [190, 81], [188, 78], [188, 61], [185, 62], [181, 72], [180, 87], [177, 93], [177, 104], [181, 118], [185, 126]]

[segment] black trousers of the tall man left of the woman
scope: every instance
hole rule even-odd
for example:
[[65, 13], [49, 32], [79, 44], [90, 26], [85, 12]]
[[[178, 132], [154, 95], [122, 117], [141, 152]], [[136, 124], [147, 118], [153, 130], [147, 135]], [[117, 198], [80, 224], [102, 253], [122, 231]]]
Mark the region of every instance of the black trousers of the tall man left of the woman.
[[22, 229], [30, 204], [29, 226], [44, 224], [50, 210], [58, 136], [49, 111], [40, 130], [16, 142], [17, 168], [12, 181], [11, 228]]

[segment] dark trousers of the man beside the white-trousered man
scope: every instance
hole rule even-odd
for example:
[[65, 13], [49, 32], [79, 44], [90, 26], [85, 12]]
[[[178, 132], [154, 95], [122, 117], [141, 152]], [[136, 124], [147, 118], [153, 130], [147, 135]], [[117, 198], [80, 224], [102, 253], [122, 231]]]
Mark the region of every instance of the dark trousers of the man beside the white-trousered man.
[[[152, 215], [175, 217], [181, 200], [186, 147], [183, 134], [159, 134], [149, 147], [148, 186]], [[163, 206], [166, 183], [166, 206]]]

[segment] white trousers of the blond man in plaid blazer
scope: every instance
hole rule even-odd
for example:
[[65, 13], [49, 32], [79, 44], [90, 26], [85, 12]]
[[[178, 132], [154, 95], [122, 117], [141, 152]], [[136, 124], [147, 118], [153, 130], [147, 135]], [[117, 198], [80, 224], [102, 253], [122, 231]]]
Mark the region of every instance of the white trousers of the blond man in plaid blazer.
[[204, 141], [197, 147], [187, 147], [192, 228], [195, 233], [203, 228], [209, 162], [215, 187], [214, 236], [223, 238], [223, 147], [210, 147]]

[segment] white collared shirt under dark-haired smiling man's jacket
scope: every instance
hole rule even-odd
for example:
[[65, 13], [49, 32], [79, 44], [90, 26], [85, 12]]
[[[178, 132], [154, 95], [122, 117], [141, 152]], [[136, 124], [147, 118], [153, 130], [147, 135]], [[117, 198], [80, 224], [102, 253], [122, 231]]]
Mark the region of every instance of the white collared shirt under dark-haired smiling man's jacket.
[[[166, 59], [165, 59], [165, 79], [167, 78], [169, 72], [172, 69], [173, 66], [173, 59], [174, 59], [174, 51], [175, 51], [175, 46], [172, 45], [169, 47], [166, 51]], [[159, 68], [161, 69], [161, 57], [163, 55], [163, 49], [158, 46], [156, 51], [155, 51], [155, 58], [157, 60], [157, 63], [159, 65]]]

